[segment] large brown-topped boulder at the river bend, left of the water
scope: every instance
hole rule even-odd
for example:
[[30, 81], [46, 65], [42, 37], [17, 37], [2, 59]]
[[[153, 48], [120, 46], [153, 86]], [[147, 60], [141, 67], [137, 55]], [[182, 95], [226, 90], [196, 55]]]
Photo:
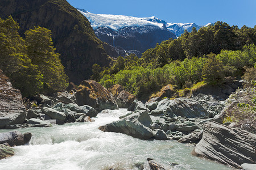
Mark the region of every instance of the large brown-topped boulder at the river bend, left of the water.
[[89, 105], [97, 111], [118, 109], [113, 95], [94, 80], [83, 80], [76, 92], [78, 105]]

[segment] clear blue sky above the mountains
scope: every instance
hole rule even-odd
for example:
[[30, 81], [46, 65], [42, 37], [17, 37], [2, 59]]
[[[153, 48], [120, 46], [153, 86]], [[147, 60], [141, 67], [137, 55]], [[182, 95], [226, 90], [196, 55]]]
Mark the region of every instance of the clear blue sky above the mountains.
[[67, 0], [94, 14], [156, 16], [172, 23], [205, 25], [218, 20], [229, 25], [256, 25], [256, 0]]

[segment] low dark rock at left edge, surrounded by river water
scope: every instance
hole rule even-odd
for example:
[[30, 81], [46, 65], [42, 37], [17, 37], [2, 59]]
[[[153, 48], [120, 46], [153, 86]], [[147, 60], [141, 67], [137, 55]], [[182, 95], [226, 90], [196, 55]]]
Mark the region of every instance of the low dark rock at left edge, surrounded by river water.
[[19, 131], [0, 133], [0, 144], [8, 143], [10, 146], [25, 145], [30, 140], [27, 137], [28, 134], [26, 134], [26, 138], [24, 139], [24, 135]]

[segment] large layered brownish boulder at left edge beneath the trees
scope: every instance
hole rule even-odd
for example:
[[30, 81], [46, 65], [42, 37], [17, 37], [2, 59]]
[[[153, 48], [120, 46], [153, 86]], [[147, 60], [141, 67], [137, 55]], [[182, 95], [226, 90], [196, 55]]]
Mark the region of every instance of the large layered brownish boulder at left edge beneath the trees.
[[10, 79], [0, 70], [0, 128], [22, 124], [26, 117], [22, 95], [11, 85]]

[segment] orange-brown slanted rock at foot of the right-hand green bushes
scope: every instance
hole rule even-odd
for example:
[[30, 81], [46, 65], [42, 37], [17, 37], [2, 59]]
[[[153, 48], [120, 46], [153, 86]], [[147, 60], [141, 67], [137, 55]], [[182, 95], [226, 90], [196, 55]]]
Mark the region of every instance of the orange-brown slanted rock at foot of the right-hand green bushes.
[[151, 103], [152, 101], [161, 101], [164, 97], [171, 98], [174, 94], [174, 87], [171, 84], [168, 84], [167, 86], [164, 86], [156, 95], [151, 96], [148, 103]]

